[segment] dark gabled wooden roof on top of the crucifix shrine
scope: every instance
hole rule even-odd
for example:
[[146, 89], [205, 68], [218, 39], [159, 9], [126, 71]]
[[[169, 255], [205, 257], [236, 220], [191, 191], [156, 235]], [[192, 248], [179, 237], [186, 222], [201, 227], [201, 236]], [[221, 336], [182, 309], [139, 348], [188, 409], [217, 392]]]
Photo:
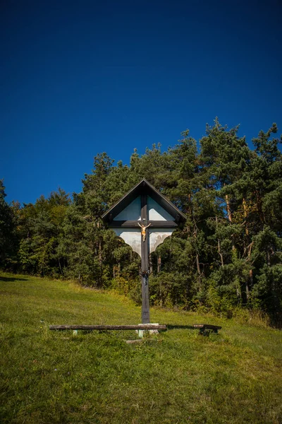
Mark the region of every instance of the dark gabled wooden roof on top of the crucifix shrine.
[[173, 217], [176, 223], [184, 222], [186, 220], [184, 213], [179, 211], [179, 209], [176, 208], [171, 201], [166, 199], [166, 197], [155, 189], [152, 184], [147, 182], [147, 179], [143, 178], [135, 185], [135, 187], [118, 200], [114, 206], [111, 206], [111, 208], [102, 215], [104, 222], [111, 223], [118, 213], [123, 211], [126, 206], [128, 206], [134, 199], [137, 198], [137, 196], [140, 196], [141, 194], [147, 194], [147, 196], [152, 197], [154, 201], [157, 201], [157, 203]]

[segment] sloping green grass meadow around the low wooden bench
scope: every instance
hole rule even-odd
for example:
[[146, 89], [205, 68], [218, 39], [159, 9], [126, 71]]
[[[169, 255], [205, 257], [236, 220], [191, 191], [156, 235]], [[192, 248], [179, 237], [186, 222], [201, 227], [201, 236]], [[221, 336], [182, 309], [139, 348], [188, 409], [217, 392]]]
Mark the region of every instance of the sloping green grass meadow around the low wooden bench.
[[188, 312], [151, 322], [209, 322], [219, 335], [174, 328], [49, 331], [50, 324], [138, 324], [140, 307], [73, 283], [1, 273], [1, 423], [282, 423], [281, 331]]

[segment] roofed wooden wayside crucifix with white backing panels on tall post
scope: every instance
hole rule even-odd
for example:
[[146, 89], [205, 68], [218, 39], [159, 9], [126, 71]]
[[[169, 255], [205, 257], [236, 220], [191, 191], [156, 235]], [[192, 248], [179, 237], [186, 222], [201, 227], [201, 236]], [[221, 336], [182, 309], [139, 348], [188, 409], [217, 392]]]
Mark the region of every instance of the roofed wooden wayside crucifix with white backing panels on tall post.
[[142, 324], [149, 324], [149, 254], [186, 217], [152, 184], [142, 179], [102, 218], [141, 257]]

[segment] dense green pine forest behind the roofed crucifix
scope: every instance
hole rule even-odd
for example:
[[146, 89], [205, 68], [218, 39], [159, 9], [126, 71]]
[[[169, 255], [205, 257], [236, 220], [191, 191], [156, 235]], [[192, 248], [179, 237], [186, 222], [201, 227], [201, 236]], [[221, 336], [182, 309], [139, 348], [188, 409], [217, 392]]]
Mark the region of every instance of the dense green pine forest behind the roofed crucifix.
[[[129, 165], [94, 158], [82, 191], [59, 188], [8, 204], [0, 182], [0, 268], [118, 290], [140, 303], [140, 257], [102, 214], [145, 178], [187, 216], [150, 259], [151, 305], [214, 314], [257, 310], [282, 325], [282, 155], [276, 124], [252, 139], [216, 118], [167, 151], [133, 151]], [[250, 143], [249, 143], [250, 144]]]

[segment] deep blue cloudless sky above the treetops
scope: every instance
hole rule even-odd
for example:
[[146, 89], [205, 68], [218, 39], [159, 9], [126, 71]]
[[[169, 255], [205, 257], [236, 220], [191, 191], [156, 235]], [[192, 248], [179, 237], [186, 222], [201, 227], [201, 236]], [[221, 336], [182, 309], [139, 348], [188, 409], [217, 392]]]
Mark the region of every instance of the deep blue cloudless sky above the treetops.
[[216, 116], [280, 134], [281, 16], [280, 0], [1, 1], [6, 199], [80, 192], [97, 153], [128, 163]]

